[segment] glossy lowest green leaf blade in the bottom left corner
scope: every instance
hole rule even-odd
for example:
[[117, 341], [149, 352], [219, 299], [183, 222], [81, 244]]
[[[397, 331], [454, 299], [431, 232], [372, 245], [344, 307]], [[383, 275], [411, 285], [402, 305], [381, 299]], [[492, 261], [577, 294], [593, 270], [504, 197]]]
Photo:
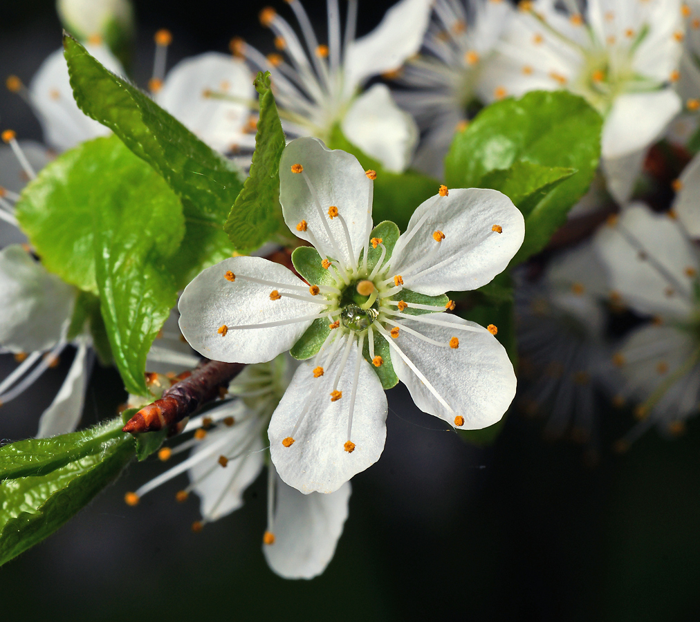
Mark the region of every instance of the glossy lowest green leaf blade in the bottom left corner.
[[116, 479], [133, 457], [134, 442], [130, 434], [121, 433], [48, 473], [3, 481], [0, 565], [55, 532]]

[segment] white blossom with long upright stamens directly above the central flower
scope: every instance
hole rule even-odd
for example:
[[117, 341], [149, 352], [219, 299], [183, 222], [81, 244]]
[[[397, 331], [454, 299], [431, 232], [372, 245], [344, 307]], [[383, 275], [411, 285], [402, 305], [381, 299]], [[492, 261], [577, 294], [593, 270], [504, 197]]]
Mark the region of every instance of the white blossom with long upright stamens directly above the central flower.
[[[370, 34], [355, 38], [357, 0], [349, 0], [344, 36], [337, 0], [328, 0], [328, 45], [319, 44], [300, 0], [289, 6], [304, 43], [272, 8], [260, 21], [272, 29], [276, 47], [285, 52], [262, 55], [241, 39], [232, 50], [255, 69], [270, 71], [285, 132], [328, 141], [339, 125], [343, 134], [386, 169], [402, 171], [411, 161], [418, 130], [410, 115], [396, 106], [383, 84], [360, 94], [373, 76], [398, 69], [421, 46], [430, 14], [429, 0], [401, 0]], [[305, 45], [305, 48], [304, 48]]]

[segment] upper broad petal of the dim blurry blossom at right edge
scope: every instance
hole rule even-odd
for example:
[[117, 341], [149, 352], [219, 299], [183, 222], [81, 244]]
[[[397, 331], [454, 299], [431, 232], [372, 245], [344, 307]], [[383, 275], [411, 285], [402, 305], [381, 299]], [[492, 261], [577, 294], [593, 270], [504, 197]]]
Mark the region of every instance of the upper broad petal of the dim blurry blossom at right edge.
[[678, 222], [633, 204], [615, 227], [598, 231], [595, 243], [608, 267], [610, 287], [633, 309], [674, 318], [690, 313], [700, 265]]

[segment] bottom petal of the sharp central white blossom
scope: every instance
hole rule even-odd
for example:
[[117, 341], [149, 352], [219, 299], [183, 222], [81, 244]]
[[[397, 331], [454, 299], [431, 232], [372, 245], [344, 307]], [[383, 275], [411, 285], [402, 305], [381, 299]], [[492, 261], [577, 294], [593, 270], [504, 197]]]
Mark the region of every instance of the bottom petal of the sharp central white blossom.
[[[338, 490], [354, 474], [377, 462], [384, 449], [386, 395], [377, 374], [362, 359], [351, 432], [355, 449], [352, 453], [344, 450], [357, 351], [353, 344], [337, 386], [342, 391], [340, 400], [331, 402], [330, 393], [342, 350], [324, 366], [320, 378], [314, 378], [311, 362], [302, 363], [272, 415], [267, 430], [272, 462], [283, 481], [304, 495]], [[295, 442], [285, 447], [282, 440], [290, 436], [307, 399], [311, 404], [293, 435]]]

